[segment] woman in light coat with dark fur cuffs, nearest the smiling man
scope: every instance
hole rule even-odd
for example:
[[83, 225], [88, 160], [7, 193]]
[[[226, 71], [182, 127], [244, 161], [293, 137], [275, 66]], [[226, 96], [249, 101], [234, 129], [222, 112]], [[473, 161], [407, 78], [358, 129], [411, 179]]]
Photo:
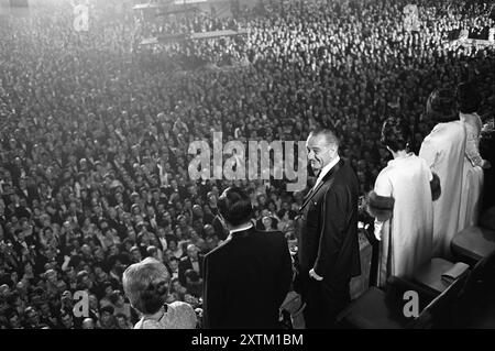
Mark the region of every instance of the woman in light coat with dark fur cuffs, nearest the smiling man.
[[391, 275], [410, 278], [433, 252], [432, 201], [440, 183], [426, 161], [408, 151], [409, 140], [409, 129], [400, 120], [384, 122], [382, 143], [394, 160], [382, 169], [367, 196], [380, 241], [378, 286]]

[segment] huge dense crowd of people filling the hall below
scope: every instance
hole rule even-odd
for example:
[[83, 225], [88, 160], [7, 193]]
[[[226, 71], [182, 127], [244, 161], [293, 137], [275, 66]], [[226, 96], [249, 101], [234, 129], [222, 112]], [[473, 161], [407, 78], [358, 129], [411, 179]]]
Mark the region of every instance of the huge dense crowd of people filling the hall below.
[[[122, 273], [146, 256], [166, 264], [169, 303], [200, 307], [201, 256], [226, 239], [216, 201], [232, 184], [251, 195], [258, 229], [294, 239], [302, 193], [273, 179], [193, 182], [191, 141], [220, 131], [226, 142], [299, 141], [331, 128], [364, 195], [389, 160], [387, 117], [409, 121], [418, 151], [435, 88], [469, 78], [481, 114], [493, 111], [493, 46], [448, 41], [453, 29], [493, 26], [490, 7], [413, 1], [421, 28], [407, 32], [409, 2], [264, 1], [240, 12], [246, 36], [162, 52], [133, 50], [132, 11], [99, 2], [88, 32], [51, 0], [2, 19], [0, 328], [132, 328]], [[209, 65], [185, 69], [191, 61]], [[89, 318], [75, 314], [78, 290]]]

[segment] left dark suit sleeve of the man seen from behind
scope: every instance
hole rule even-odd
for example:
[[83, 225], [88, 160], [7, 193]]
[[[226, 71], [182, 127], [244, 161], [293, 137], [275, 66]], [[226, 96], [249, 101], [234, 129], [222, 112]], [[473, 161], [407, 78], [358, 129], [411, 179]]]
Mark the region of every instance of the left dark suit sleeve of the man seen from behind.
[[216, 259], [210, 255], [205, 256], [205, 294], [204, 294], [204, 328], [218, 329], [224, 326], [221, 325], [223, 312], [223, 286], [227, 284], [222, 282], [222, 271], [216, 264]]

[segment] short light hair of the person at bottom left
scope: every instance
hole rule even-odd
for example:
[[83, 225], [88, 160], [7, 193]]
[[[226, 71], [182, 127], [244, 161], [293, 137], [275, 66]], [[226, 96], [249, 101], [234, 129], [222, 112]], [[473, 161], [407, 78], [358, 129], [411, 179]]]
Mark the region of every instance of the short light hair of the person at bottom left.
[[142, 314], [153, 314], [155, 311], [147, 310], [145, 307], [146, 301], [143, 300], [142, 294], [148, 290], [152, 284], [168, 278], [168, 271], [162, 262], [146, 257], [124, 271], [122, 285], [125, 296], [135, 309]]

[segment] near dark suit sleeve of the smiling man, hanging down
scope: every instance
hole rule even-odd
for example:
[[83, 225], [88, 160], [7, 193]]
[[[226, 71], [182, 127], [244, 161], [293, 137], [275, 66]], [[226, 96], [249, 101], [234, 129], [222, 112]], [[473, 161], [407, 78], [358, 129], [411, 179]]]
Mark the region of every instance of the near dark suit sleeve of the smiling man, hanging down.
[[344, 186], [334, 186], [328, 190], [323, 199], [323, 224], [314, 266], [315, 273], [323, 278], [329, 274], [329, 270], [334, 267], [342, 249], [346, 230], [348, 213], [345, 213], [345, 209], [349, 206], [349, 197]]

